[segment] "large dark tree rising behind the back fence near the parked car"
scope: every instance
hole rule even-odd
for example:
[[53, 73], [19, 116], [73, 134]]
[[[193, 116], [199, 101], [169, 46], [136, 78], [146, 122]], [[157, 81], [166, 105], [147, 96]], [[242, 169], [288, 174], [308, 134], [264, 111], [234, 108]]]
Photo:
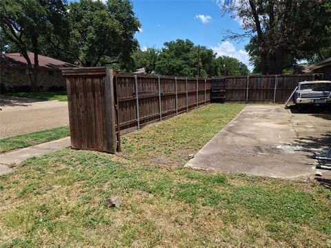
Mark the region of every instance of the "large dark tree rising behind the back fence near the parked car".
[[228, 38], [250, 38], [246, 46], [254, 70], [280, 74], [296, 61], [317, 54], [330, 41], [326, 3], [330, 0], [230, 0], [222, 12], [243, 21], [244, 32], [228, 32]]

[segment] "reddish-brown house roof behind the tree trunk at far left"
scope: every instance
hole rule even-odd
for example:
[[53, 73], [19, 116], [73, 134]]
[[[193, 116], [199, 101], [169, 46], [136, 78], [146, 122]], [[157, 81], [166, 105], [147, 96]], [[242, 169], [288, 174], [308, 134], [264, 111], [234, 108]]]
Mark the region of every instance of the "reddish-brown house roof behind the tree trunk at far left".
[[[28, 52], [28, 56], [32, 65], [34, 65], [34, 53]], [[48, 68], [48, 69], [58, 69], [58, 68], [68, 68], [68, 67], [77, 67], [71, 63], [60, 61], [58, 59], [53, 59], [48, 56], [38, 55], [39, 68]], [[1, 54], [0, 55], [0, 65], [1, 66], [21, 66], [27, 67], [28, 62], [19, 52]]]

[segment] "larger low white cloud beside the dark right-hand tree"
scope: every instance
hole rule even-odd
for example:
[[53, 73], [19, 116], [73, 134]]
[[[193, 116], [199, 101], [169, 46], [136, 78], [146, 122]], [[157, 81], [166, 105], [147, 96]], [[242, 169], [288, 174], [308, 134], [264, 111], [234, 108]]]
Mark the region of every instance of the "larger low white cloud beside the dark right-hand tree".
[[230, 56], [232, 58], [238, 59], [248, 66], [248, 69], [252, 70], [252, 66], [250, 65], [250, 56], [248, 56], [248, 52], [244, 50], [236, 50], [234, 45], [229, 41], [224, 41], [222, 43], [217, 44], [215, 47], [210, 47], [214, 52], [217, 53], [217, 56]]

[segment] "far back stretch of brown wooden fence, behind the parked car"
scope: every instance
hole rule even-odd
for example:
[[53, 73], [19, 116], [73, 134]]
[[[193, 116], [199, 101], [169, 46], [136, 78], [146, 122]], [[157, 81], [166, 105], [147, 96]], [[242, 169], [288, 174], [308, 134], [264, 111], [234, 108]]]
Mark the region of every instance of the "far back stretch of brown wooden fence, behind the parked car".
[[[245, 103], [284, 103], [301, 81], [313, 80], [310, 74], [266, 75], [266, 76], [225, 76], [213, 78], [213, 87], [219, 93], [213, 99], [225, 97], [225, 101]], [[220, 90], [221, 85], [223, 91]]]

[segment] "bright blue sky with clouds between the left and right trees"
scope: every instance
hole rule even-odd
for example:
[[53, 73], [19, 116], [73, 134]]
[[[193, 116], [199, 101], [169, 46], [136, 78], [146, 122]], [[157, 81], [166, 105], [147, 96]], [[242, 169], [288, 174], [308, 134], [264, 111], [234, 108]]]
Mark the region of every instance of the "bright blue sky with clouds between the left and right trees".
[[242, 30], [239, 21], [222, 16], [217, 1], [134, 0], [132, 4], [141, 22], [141, 32], [136, 34], [141, 49], [162, 48], [165, 41], [190, 39], [218, 55], [233, 56], [249, 65], [244, 51], [248, 40], [222, 41], [223, 30]]

